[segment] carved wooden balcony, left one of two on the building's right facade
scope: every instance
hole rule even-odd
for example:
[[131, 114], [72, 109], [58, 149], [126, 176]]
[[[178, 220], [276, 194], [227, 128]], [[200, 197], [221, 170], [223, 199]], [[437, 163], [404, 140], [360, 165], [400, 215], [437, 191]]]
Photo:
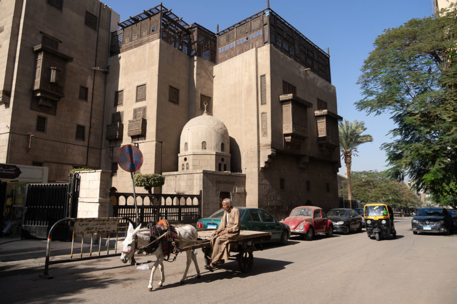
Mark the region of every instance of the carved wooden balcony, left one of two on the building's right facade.
[[295, 94], [279, 96], [282, 103], [282, 134], [286, 142], [308, 138], [308, 108], [312, 104]]

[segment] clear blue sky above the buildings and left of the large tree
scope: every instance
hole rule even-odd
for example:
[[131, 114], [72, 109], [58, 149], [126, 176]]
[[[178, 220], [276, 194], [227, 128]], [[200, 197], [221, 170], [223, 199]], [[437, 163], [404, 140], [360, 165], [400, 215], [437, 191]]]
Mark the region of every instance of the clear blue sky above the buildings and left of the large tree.
[[[160, 1], [105, 0], [120, 15], [121, 21], [155, 7]], [[216, 32], [267, 7], [267, 0], [163, 0], [162, 5], [191, 24]], [[354, 102], [362, 98], [356, 85], [360, 68], [373, 42], [384, 29], [397, 27], [412, 18], [431, 16], [432, 0], [270, 0], [270, 8], [323, 50], [330, 49], [332, 84], [336, 87], [338, 114], [348, 121], [364, 121], [373, 142], [358, 148], [352, 159], [352, 171], [386, 169], [385, 152], [380, 149], [391, 141], [387, 133], [394, 128], [389, 115], [367, 116], [358, 112]], [[342, 161], [339, 173], [344, 175]]]

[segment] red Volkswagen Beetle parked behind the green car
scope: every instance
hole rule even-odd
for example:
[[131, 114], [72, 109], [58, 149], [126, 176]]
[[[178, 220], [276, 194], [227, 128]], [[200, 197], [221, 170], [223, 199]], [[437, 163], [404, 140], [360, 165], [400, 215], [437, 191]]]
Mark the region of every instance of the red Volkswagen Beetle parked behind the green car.
[[332, 221], [322, 208], [315, 206], [301, 206], [293, 208], [289, 217], [283, 222], [290, 227], [292, 235], [300, 235], [307, 241], [311, 241], [317, 234], [333, 235]]

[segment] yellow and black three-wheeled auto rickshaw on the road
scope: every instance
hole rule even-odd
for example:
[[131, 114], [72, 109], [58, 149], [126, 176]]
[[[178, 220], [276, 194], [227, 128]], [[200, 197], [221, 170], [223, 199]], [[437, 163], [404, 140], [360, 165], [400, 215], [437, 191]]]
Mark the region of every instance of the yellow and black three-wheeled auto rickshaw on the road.
[[365, 230], [369, 238], [375, 236], [376, 241], [381, 236], [393, 235], [397, 238], [394, 226], [394, 210], [384, 203], [369, 203], [364, 207]]

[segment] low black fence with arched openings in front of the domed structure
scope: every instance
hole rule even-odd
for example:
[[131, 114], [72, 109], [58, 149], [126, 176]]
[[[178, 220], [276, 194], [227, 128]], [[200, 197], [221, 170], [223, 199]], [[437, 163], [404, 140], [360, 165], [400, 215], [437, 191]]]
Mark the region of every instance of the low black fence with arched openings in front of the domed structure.
[[[112, 193], [115, 197], [115, 217], [127, 217], [135, 221], [136, 212], [132, 193]], [[185, 194], [137, 194], [138, 215], [141, 223], [167, 219], [175, 224], [195, 224], [202, 215], [202, 192]], [[121, 221], [124, 223], [125, 221]]]

